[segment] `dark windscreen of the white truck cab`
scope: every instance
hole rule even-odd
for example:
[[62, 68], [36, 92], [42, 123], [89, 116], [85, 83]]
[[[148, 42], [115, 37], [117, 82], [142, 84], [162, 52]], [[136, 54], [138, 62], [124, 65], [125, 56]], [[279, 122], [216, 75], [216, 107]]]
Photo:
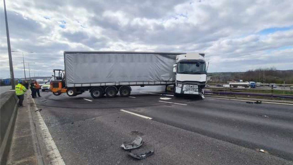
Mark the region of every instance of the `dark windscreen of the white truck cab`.
[[206, 74], [206, 63], [196, 61], [184, 61], [178, 63], [177, 73], [180, 74]]

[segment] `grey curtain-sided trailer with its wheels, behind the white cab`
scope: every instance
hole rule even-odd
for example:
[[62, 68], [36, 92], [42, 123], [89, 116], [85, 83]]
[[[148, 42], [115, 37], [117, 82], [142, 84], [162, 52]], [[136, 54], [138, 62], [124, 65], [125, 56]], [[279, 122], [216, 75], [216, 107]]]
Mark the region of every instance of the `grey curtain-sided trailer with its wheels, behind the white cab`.
[[129, 96], [131, 86], [174, 84], [173, 64], [180, 54], [186, 53], [64, 51], [62, 91], [66, 88], [68, 96], [89, 91], [99, 98]]

